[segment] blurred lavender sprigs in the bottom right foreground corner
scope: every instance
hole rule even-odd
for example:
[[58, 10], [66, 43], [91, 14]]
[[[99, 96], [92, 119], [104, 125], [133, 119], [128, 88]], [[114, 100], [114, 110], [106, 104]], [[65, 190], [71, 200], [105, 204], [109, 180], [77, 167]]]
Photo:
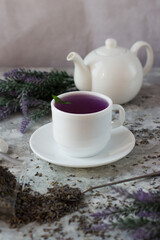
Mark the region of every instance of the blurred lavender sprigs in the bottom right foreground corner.
[[129, 193], [122, 188], [114, 188], [118, 195], [128, 201], [118, 206], [109, 206], [103, 211], [83, 218], [80, 223], [86, 234], [106, 239], [107, 233], [114, 229], [125, 230], [133, 240], [160, 239], [160, 190], [145, 192], [139, 189]]

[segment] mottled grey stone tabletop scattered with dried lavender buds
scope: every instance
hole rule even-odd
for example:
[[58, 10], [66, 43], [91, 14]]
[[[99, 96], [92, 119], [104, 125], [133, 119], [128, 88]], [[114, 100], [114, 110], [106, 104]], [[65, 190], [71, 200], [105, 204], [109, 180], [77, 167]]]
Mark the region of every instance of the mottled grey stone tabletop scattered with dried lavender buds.
[[[1, 73], [4, 69], [1, 70]], [[30, 150], [29, 139], [32, 133], [40, 126], [51, 121], [51, 116], [32, 124], [28, 131], [22, 135], [19, 131], [22, 116], [15, 114], [0, 122], [0, 136], [9, 144], [9, 153], [16, 154], [18, 158], [28, 160], [29, 167], [25, 178], [34, 190], [44, 193], [54, 181], [80, 187], [82, 190], [89, 186], [120, 180], [131, 176], [150, 173], [160, 170], [160, 69], [153, 69], [144, 79], [143, 87], [138, 96], [130, 103], [124, 105], [126, 111], [125, 126], [135, 135], [136, 146], [133, 151], [123, 159], [102, 167], [96, 168], [65, 168], [49, 164], [38, 159]], [[37, 168], [37, 166], [39, 166]], [[42, 173], [40, 177], [39, 174]], [[129, 191], [143, 188], [159, 189], [160, 178], [146, 179], [121, 184]], [[1, 222], [0, 240], [71, 240], [71, 239], [101, 239], [92, 235], [85, 235], [78, 230], [77, 216], [89, 216], [93, 212], [102, 210], [112, 201], [114, 204], [120, 199], [114, 198], [110, 188], [95, 190], [86, 195], [87, 206], [79, 212], [63, 217], [51, 225], [37, 225], [31, 223], [20, 229], [9, 229]], [[130, 239], [126, 232], [109, 231], [105, 239]]]

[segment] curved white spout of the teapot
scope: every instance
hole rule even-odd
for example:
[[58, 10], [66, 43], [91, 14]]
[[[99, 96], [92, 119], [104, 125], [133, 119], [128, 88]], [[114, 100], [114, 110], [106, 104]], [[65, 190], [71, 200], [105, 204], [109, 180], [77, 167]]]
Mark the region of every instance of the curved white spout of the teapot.
[[78, 53], [71, 52], [67, 56], [68, 61], [74, 63], [74, 81], [76, 87], [81, 91], [91, 90], [91, 73]]

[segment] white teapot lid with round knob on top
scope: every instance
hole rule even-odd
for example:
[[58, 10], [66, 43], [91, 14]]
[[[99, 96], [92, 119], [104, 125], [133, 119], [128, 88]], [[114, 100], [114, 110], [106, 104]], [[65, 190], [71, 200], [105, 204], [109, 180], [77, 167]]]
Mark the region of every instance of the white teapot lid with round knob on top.
[[127, 52], [127, 49], [117, 46], [115, 39], [108, 38], [105, 41], [105, 46], [97, 48], [95, 52], [100, 56], [116, 56]]

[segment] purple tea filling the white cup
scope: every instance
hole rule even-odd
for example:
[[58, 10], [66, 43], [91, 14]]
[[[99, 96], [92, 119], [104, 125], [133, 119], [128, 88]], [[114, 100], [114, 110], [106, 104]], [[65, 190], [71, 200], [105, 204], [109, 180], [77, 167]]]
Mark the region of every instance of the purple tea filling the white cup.
[[61, 100], [70, 102], [70, 104], [55, 103], [56, 108], [63, 112], [76, 114], [99, 112], [107, 108], [109, 105], [103, 98], [89, 94], [68, 95], [62, 97]]

